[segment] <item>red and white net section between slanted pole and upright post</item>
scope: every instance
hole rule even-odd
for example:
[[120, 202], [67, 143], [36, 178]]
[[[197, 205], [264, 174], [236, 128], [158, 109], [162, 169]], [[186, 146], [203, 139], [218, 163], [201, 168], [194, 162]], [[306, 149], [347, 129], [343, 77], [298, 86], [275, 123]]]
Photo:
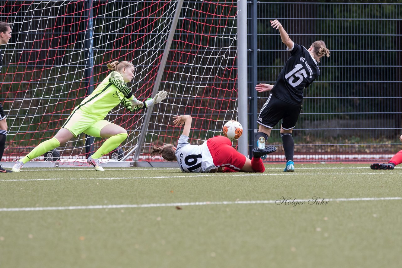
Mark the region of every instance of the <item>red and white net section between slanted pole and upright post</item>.
[[143, 149], [131, 164], [168, 165], [158, 163], [160, 156], [151, 158], [149, 151], [153, 145], [177, 144], [182, 128], [172, 125], [175, 115], [193, 117], [191, 144], [222, 134], [226, 121], [238, 120], [237, 14], [236, 2], [183, 4], [159, 88], [169, 92], [168, 100], [154, 107], [148, 130], [142, 133]]

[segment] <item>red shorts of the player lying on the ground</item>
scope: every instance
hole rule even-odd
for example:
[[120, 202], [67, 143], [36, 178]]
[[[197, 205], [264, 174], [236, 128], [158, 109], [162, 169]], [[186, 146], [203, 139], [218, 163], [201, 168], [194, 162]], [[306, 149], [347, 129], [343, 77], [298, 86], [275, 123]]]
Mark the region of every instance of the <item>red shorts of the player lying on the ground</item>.
[[240, 170], [246, 163], [246, 157], [232, 147], [230, 139], [224, 136], [215, 136], [207, 140], [213, 164], [219, 167], [229, 167]]

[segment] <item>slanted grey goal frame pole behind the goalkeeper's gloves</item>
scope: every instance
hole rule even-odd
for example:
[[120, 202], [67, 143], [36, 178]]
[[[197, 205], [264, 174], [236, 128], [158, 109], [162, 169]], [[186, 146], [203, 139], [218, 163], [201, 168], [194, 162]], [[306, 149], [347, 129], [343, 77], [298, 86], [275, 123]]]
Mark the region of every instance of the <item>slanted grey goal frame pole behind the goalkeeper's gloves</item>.
[[[176, 6], [176, 11], [174, 12], [172, 25], [170, 25], [168, 39], [166, 41], [165, 50], [163, 51], [162, 59], [160, 61], [158, 74], [156, 75], [156, 80], [155, 80], [155, 84], [154, 84], [154, 88], [152, 90], [151, 96], [155, 96], [156, 92], [158, 92], [160, 81], [162, 80], [162, 76], [163, 76], [163, 71], [165, 69], [165, 64], [168, 59], [170, 45], [172, 45], [174, 32], [176, 31], [178, 17], [180, 16], [180, 11], [181, 11], [182, 5], [183, 5], [183, 0], [178, 0], [177, 6]], [[142, 146], [144, 145], [145, 135], [148, 131], [148, 123], [150, 121], [153, 108], [154, 108], [153, 106], [151, 106], [150, 108], [147, 108], [147, 113], [145, 115], [144, 123], [141, 128], [141, 133], [139, 134], [139, 137], [138, 137], [137, 150], [135, 151], [135, 155], [134, 155], [134, 159], [133, 159], [134, 162], [139, 160], [139, 155], [141, 154]]]

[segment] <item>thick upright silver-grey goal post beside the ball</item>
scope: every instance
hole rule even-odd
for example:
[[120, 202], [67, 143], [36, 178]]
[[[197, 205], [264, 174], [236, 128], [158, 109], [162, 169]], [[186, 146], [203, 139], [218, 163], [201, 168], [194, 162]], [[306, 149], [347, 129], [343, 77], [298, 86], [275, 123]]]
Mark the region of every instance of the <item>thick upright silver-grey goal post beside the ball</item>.
[[248, 106], [247, 106], [247, 1], [237, 2], [237, 84], [238, 121], [243, 126], [243, 135], [238, 140], [238, 151], [248, 155]]

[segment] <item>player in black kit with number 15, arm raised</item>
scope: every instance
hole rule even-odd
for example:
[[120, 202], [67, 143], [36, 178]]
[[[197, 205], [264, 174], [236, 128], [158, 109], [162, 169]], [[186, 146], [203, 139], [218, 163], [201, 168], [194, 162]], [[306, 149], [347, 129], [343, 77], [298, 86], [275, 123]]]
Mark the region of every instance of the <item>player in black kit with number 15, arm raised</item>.
[[[270, 20], [271, 26], [279, 30], [282, 42], [287, 46], [290, 57], [283, 66], [275, 85], [258, 84], [258, 92], [271, 94], [261, 108], [257, 123], [260, 124], [255, 137], [258, 148], [265, 148], [271, 130], [282, 119], [281, 137], [285, 150], [286, 167], [283, 171], [294, 171], [294, 142], [292, 130], [296, 125], [303, 102], [303, 90], [320, 75], [317, 64], [323, 56], [329, 57], [324, 41], [315, 41], [306, 49], [293, 43], [278, 20]], [[264, 158], [265, 159], [265, 158]]]

